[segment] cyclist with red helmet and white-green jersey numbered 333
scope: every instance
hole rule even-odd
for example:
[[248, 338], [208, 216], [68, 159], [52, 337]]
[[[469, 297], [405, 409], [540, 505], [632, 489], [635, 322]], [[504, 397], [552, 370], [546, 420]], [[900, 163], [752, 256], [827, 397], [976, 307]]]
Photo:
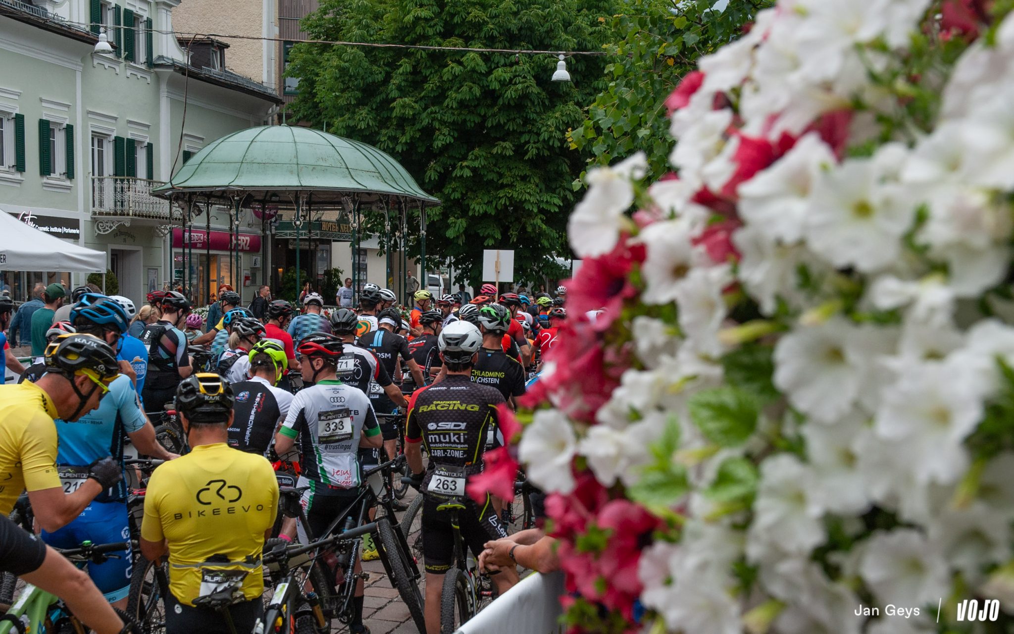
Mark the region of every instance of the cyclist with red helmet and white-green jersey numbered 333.
[[[358, 514], [358, 508], [351, 508], [345, 517], [339, 516], [358, 496], [362, 484], [358, 448], [377, 448], [381, 443], [380, 428], [369, 399], [337, 376], [343, 348], [335, 335], [321, 333], [303, 340], [299, 346], [299, 353], [306, 359], [303, 380], [313, 385], [296, 394], [289, 415], [275, 436], [275, 450], [280, 454], [298, 442], [302, 474], [297, 486], [309, 487], [300, 502], [314, 537], [324, 537], [336, 520], [336, 525], [343, 525], [347, 517]], [[299, 533], [300, 541], [305, 543], [307, 536], [302, 524]], [[350, 631], [357, 634], [367, 631], [363, 625], [363, 580], [358, 577], [361, 570], [357, 559], [349, 624]]]

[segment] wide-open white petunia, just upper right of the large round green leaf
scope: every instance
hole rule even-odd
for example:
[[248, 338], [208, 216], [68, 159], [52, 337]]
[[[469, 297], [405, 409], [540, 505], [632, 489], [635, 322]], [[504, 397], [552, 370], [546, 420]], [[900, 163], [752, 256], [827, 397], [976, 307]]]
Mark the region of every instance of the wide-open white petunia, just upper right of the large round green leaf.
[[875, 338], [843, 319], [797, 328], [775, 346], [775, 385], [789, 402], [818, 422], [848, 413], [874, 356]]

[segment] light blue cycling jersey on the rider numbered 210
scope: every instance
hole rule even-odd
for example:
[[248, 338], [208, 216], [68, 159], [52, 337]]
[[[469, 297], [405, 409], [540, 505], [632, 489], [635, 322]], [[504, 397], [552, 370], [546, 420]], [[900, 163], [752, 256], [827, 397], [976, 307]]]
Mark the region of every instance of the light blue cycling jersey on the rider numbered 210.
[[[144, 427], [147, 419], [141, 410], [137, 393], [130, 377], [119, 376], [110, 383], [110, 393], [99, 402], [98, 409], [85, 414], [74, 423], [57, 419], [57, 470], [67, 473], [74, 470], [67, 468], [87, 467], [93, 462], [113, 455], [123, 459], [124, 434], [133, 433]], [[87, 473], [85, 471], [85, 473]], [[81, 478], [70, 475], [61, 476], [64, 490], [76, 489], [74, 481]], [[127, 485], [120, 481], [95, 498], [99, 502], [122, 501], [127, 499]]]

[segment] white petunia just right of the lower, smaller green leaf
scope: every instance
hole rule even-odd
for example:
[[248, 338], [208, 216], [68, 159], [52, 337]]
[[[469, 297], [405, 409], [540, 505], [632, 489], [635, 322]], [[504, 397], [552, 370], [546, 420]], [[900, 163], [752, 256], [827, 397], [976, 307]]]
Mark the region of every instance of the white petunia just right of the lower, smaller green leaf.
[[760, 483], [747, 534], [750, 561], [808, 555], [825, 539], [819, 500], [808, 482], [812, 472], [794, 455], [779, 453], [760, 464]]

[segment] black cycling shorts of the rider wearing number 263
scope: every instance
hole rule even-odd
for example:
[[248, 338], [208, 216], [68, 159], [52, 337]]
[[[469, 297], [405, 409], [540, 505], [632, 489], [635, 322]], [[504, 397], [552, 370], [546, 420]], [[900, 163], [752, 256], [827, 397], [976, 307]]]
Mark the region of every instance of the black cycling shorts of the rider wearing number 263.
[[[426, 495], [423, 501], [423, 558], [426, 572], [444, 574], [454, 565], [454, 529], [450, 524], [450, 511], [437, 510], [446, 499]], [[484, 545], [507, 537], [507, 529], [493, 508], [490, 496], [480, 507], [470, 498], [464, 500], [464, 510], [457, 514], [461, 537], [477, 558]]]

